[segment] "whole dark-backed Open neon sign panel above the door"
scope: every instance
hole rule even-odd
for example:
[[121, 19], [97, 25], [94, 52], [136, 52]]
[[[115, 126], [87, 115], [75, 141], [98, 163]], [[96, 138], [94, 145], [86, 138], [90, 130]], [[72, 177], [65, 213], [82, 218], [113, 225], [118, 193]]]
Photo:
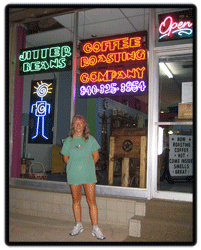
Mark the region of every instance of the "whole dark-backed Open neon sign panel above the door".
[[159, 15], [159, 41], [192, 37], [192, 14], [189, 15], [189, 13], [187, 16], [185, 16], [181, 12]]

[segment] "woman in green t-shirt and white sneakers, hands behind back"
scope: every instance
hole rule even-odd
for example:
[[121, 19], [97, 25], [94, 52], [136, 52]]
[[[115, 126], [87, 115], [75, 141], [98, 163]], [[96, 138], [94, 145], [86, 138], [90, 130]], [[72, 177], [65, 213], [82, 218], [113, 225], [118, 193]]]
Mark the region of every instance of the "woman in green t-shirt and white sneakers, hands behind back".
[[81, 223], [81, 189], [85, 190], [89, 204], [90, 217], [93, 224], [92, 235], [103, 240], [105, 236], [98, 227], [98, 209], [96, 205], [96, 173], [95, 163], [99, 159], [99, 144], [89, 134], [88, 125], [81, 115], [75, 115], [69, 137], [61, 150], [64, 162], [67, 163], [67, 182], [73, 197], [73, 212], [76, 225], [70, 235], [75, 236], [84, 231]]

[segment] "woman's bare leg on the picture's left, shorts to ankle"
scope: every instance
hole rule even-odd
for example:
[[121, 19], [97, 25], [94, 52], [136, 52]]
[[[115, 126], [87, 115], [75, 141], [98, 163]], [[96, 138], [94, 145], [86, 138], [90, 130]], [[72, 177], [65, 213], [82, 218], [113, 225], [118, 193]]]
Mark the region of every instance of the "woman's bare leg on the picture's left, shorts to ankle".
[[73, 212], [76, 222], [81, 222], [81, 185], [70, 185], [73, 196]]

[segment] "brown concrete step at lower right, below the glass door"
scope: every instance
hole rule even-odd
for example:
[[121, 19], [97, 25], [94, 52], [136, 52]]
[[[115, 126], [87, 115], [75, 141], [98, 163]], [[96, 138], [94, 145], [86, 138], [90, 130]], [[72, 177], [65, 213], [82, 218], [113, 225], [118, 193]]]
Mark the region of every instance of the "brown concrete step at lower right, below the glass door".
[[145, 211], [145, 216], [130, 219], [130, 237], [152, 242], [193, 240], [192, 203], [151, 200], [146, 202]]

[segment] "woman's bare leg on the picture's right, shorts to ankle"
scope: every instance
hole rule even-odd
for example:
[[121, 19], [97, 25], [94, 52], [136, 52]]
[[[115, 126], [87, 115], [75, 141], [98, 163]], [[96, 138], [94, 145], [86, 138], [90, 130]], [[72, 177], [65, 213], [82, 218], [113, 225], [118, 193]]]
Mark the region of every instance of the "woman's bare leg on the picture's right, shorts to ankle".
[[96, 205], [96, 183], [83, 184], [87, 202], [89, 204], [89, 213], [92, 225], [98, 224], [98, 208]]

